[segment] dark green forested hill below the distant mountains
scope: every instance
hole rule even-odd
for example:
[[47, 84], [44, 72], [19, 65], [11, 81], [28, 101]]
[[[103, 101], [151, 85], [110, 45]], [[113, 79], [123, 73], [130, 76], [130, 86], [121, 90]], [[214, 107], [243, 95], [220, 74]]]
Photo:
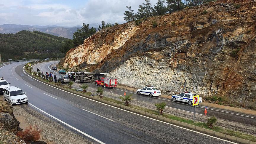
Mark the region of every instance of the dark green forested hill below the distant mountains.
[[15, 34], [0, 33], [0, 54], [3, 60], [21, 60], [63, 57], [59, 51], [66, 38], [39, 31], [20, 31]]

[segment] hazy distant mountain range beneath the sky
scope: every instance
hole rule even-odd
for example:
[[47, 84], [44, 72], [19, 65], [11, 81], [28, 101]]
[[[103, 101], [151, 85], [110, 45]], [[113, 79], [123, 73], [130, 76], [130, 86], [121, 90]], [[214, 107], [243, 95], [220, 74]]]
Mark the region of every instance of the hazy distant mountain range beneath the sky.
[[[98, 24], [89, 24], [90, 27], [96, 27]], [[98, 26], [97, 26], [98, 27]], [[96, 28], [97, 28], [96, 27]], [[17, 33], [19, 31], [40, 31], [44, 33], [49, 33], [55, 36], [61, 36], [68, 39], [73, 39], [73, 33], [81, 26], [77, 25], [75, 27], [57, 26], [57, 25], [15, 25], [15, 24], [4, 24], [0, 25], [0, 33]]]

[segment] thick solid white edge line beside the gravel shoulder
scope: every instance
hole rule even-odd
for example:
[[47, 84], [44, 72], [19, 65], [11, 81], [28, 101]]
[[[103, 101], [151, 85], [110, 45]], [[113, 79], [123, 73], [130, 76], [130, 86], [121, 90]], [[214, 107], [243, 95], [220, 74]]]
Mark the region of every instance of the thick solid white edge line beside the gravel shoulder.
[[47, 113], [47, 112], [41, 110], [40, 108], [36, 107], [35, 105], [32, 105], [31, 103], [28, 103], [28, 104], [31, 105], [31, 106], [33, 106], [34, 108], [38, 109], [38, 110], [41, 111], [42, 113], [44, 113], [44, 114], [46, 114], [46, 115], [52, 117], [53, 119], [55, 119], [55, 120], [57, 120], [57, 121], [59, 121], [59, 122], [65, 124], [66, 126], [68, 126], [68, 127], [72, 128], [72, 129], [76, 130], [77, 132], [80, 132], [81, 134], [83, 134], [83, 135], [85, 135], [85, 136], [87, 136], [87, 137], [89, 137], [89, 138], [91, 138], [91, 139], [97, 141], [98, 143], [105, 144], [105, 143], [103, 143], [102, 141], [100, 141], [100, 140], [98, 140], [98, 139], [96, 139], [96, 138], [94, 138], [94, 137], [92, 137], [92, 136], [86, 134], [85, 132], [82, 132], [81, 130], [79, 130], [79, 129], [77, 129], [77, 128], [75, 128], [75, 127], [73, 127], [73, 126], [71, 126], [71, 125], [65, 123], [64, 121], [61, 121], [60, 119], [58, 119], [58, 118], [56, 118], [56, 117], [50, 115], [49, 113]]

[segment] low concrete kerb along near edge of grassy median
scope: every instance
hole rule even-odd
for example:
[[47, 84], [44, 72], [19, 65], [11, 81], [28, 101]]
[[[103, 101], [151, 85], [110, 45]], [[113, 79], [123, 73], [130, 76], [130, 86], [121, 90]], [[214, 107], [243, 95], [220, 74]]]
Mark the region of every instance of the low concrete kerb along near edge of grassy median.
[[[31, 75], [30, 73], [28, 73], [28, 74]], [[31, 76], [33, 76], [33, 75], [31, 75]], [[145, 111], [140, 111], [140, 110], [137, 110], [135, 108], [130, 108], [130, 107], [125, 106], [125, 105], [120, 105], [120, 104], [113, 103], [113, 102], [110, 102], [110, 101], [107, 101], [107, 100], [103, 100], [103, 99], [98, 98], [98, 97], [93, 97], [93, 96], [85, 95], [83, 93], [76, 92], [76, 91], [73, 91], [73, 90], [70, 90], [70, 89], [66, 89], [66, 88], [57, 86], [55, 84], [46, 82], [46, 81], [44, 81], [44, 80], [42, 80], [42, 79], [40, 79], [38, 77], [35, 77], [35, 76], [33, 76], [33, 77], [38, 79], [39, 81], [47, 83], [47, 84], [49, 84], [49, 85], [51, 85], [53, 87], [62, 89], [64, 91], [67, 91], [67, 92], [70, 92], [70, 93], [73, 93], [73, 94], [76, 94], [76, 95], [80, 95], [80, 96], [83, 96], [83, 97], [87, 97], [87, 98], [90, 98], [90, 99], [93, 99], [93, 100], [97, 100], [97, 101], [102, 102], [102, 103], [107, 103], [109, 105], [113, 105], [113, 106], [116, 106], [118, 108], [123, 108], [123, 109], [128, 110], [128, 111], [139, 113], [139, 114], [144, 115], [144, 116], [149, 116], [149, 117], [152, 117], [154, 119], [160, 119], [160, 120], [166, 121], [168, 123], [172, 123], [172, 124], [175, 124], [175, 125], [179, 125], [181, 127], [193, 129], [193, 130], [196, 130], [196, 131], [199, 131], [199, 132], [207, 133], [209, 135], [213, 135], [213, 136], [216, 136], [216, 137], [225, 138], [225, 139], [228, 139], [228, 140], [231, 140], [231, 141], [234, 141], [234, 142], [244, 143], [244, 144], [256, 144], [256, 142], [252, 142], [250, 140], [241, 139], [239, 137], [234, 137], [234, 136], [226, 135], [226, 134], [223, 134], [223, 133], [220, 133], [220, 132], [215, 132], [213, 130], [209, 130], [209, 129], [205, 129], [205, 128], [202, 128], [202, 127], [194, 126], [194, 125], [187, 124], [187, 123], [184, 123], [184, 122], [181, 122], [181, 121], [176, 121], [176, 120], [169, 119], [169, 118], [166, 118], [166, 117], [163, 117], [163, 116], [147, 113]], [[243, 111], [245, 111], [245, 110], [243, 109]], [[249, 110], [246, 110], [246, 111], [249, 111]]]

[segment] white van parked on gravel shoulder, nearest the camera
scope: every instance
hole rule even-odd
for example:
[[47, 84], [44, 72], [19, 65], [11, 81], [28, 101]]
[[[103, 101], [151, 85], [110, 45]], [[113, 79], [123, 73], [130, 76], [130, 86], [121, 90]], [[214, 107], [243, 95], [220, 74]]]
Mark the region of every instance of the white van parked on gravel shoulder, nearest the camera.
[[8, 101], [10, 105], [28, 103], [28, 97], [25, 94], [26, 93], [16, 86], [4, 88], [4, 100]]

